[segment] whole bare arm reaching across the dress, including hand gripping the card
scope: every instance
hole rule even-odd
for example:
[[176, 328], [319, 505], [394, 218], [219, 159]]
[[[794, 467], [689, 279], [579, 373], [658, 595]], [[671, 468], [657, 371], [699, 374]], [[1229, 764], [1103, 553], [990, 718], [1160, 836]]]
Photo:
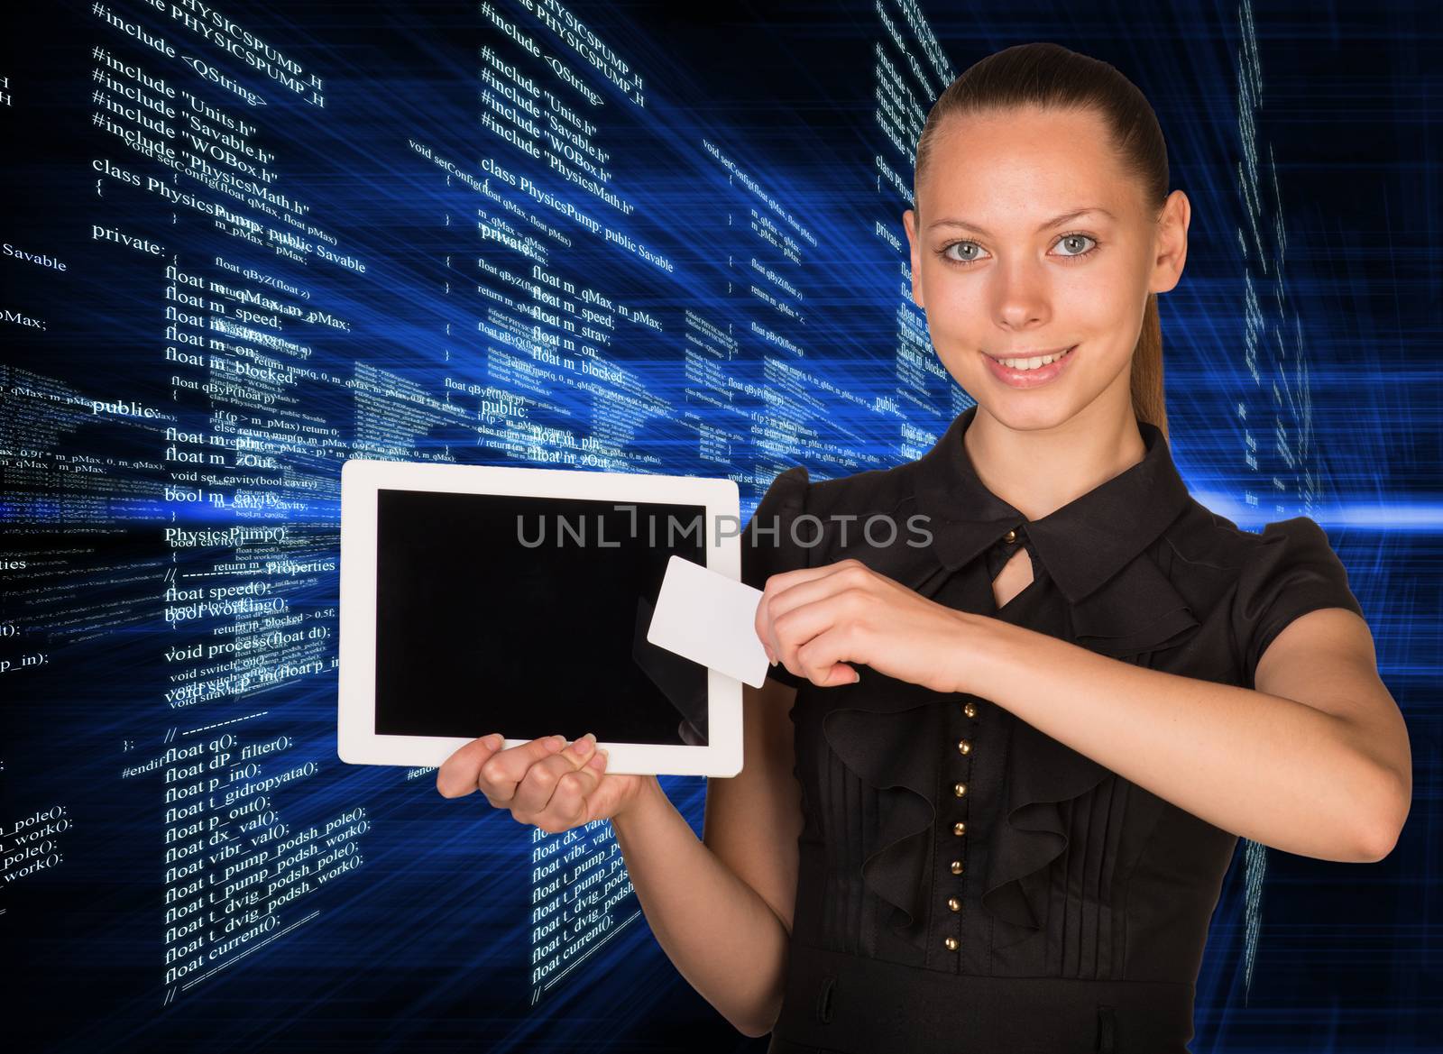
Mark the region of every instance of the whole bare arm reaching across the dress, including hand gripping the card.
[[1293, 619], [1254, 688], [1139, 666], [918, 595], [859, 559], [772, 575], [768, 652], [815, 685], [848, 663], [994, 701], [1126, 780], [1242, 838], [1302, 856], [1378, 861], [1413, 794], [1408, 730], [1356, 611]]

